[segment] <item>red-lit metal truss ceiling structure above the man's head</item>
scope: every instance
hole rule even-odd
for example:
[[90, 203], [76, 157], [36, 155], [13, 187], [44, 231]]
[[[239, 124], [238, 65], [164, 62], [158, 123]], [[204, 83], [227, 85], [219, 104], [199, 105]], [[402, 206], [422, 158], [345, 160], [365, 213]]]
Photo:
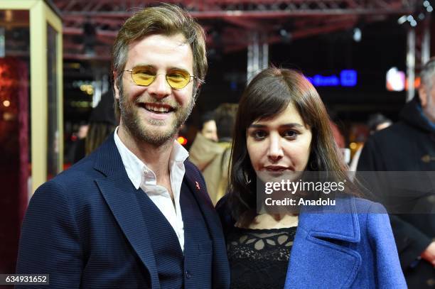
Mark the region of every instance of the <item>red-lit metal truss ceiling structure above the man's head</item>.
[[[249, 45], [257, 31], [264, 43], [353, 28], [359, 23], [412, 15], [421, 0], [172, 0], [198, 18], [208, 47], [222, 52]], [[53, 0], [63, 15], [64, 58], [109, 60], [117, 31], [126, 18], [155, 1]], [[286, 36], [287, 39], [283, 38]]]

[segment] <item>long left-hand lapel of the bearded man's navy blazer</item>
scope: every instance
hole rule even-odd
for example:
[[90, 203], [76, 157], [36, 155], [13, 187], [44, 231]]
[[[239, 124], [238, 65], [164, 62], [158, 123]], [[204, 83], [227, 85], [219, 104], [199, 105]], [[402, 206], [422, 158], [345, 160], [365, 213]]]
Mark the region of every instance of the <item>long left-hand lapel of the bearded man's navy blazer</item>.
[[135, 189], [124, 170], [113, 134], [96, 152], [95, 169], [106, 175], [95, 180], [128, 241], [151, 276], [152, 288], [160, 288], [156, 260], [141, 209], [134, 197]]

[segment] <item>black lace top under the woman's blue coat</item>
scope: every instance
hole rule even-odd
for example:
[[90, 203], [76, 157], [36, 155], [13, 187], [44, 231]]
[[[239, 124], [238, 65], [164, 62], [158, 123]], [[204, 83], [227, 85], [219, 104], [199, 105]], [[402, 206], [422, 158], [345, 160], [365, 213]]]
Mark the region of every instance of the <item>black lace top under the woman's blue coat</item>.
[[231, 288], [284, 288], [296, 227], [241, 229], [227, 235]]

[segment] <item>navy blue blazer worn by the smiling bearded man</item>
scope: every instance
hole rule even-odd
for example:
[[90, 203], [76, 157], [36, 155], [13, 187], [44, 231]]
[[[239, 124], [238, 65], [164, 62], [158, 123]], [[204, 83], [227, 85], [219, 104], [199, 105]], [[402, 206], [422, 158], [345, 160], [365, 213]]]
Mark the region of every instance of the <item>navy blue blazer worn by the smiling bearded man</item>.
[[[202, 175], [188, 160], [185, 165], [183, 182], [198, 192], [193, 195], [213, 244], [213, 280], [198, 286], [228, 288], [220, 220]], [[159, 260], [135, 191], [112, 134], [95, 153], [36, 190], [21, 229], [17, 273], [49, 273], [51, 288], [160, 288]]]

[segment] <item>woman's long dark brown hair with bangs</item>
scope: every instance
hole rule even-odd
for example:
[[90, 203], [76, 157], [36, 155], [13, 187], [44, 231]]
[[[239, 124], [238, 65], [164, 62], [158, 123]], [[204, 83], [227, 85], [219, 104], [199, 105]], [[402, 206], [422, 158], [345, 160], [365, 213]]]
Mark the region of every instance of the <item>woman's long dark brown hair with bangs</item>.
[[328, 113], [316, 89], [301, 72], [267, 68], [248, 84], [237, 110], [228, 196], [236, 221], [245, 212], [251, 216], [256, 212], [257, 175], [247, 151], [247, 129], [254, 121], [272, 119], [289, 104], [294, 105], [313, 136], [307, 169], [331, 172], [334, 178], [349, 180], [348, 165], [334, 141]]

